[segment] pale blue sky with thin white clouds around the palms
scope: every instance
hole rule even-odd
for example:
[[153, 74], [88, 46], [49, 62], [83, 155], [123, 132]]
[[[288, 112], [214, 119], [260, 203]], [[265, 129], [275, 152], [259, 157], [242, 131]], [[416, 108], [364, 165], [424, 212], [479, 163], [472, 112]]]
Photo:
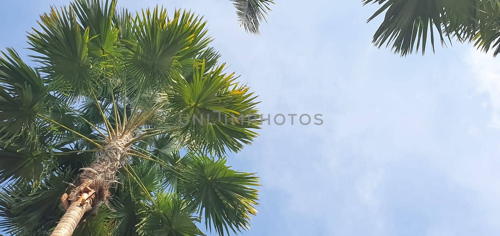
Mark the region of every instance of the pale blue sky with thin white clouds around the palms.
[[[2, 2], [0, 47], [27, 53], [24, 31], [49, 3], [67, 2]], [[457, 43], [425, 57], [376, 49], [377, 22], [365, 23], [375, 7], [360, 0], [278, 0], [259, 37], [237, 27], [227, 0], [118, 1], [156, 3], [205, 15], [212, 45], [260, 95], [263, 113], [323, 114], [321, 126], [264, 126], [230, 155], [263, 185], [243, 235], [500, 234], [500, 67], [491, 55]]]

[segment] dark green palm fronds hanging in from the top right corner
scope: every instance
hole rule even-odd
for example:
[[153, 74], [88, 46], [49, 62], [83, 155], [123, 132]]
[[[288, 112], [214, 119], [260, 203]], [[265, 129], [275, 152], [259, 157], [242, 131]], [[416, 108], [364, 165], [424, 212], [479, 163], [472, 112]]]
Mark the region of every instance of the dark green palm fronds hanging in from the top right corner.
[[500, 53], [500, 1], [498, 0], [363, 0], [364, 4], [381, 5], [369, 19], [385, 11], [385, 17], [373, 36], [377, 47], [391, 47], [394, 53], [406, 56], [425, 53], [428, 40], [434, 51], [441, 45], [473, 42], [493, 55]]

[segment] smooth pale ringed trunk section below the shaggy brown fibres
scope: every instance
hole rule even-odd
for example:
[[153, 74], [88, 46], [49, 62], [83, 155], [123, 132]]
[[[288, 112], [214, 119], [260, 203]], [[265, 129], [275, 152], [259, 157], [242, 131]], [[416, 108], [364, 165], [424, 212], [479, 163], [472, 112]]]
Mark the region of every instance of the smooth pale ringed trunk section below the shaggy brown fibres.
[[91, 201], [83, 204], [78, 201], [73, 202], [50, 236], [71, 236], [83, 214], [92, 208], [90, 205]]

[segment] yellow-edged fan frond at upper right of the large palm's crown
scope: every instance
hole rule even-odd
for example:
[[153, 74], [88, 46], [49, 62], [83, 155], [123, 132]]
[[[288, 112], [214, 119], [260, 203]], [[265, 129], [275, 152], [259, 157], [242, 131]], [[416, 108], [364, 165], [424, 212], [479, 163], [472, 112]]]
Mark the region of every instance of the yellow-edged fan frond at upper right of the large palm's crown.
[[[147, 87], [165, 87], [190, 69], [194, 57], [210, 42], [205, 36], [206, 22], [190, 11], [176, 10], [169, 18], [163, 7], [137, 13], [136, 40], [128, 40], [131, 55], [126, 67], [130, 73], [147, 79], [136, 81]], [[139, 77], [140, 78], [140, 77]]]

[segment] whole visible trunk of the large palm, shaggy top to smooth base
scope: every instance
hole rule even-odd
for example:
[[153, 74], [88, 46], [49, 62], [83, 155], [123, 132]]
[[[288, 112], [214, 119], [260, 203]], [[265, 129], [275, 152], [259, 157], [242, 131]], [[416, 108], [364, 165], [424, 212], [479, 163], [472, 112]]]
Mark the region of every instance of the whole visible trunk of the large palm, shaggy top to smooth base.
[[90, 209], [97, 211], [110, 196], [109, 189], [118, 182], [116, 173], [126, 161], [126, 146], [131, 135], [116, 135], [102, 148], [101, 154], [87, 168], [82, 168], [77, 186], [69, 196], [62, 196], [63, 205], [69, 205], [51, 236], [70, 236], [83, 214]]

